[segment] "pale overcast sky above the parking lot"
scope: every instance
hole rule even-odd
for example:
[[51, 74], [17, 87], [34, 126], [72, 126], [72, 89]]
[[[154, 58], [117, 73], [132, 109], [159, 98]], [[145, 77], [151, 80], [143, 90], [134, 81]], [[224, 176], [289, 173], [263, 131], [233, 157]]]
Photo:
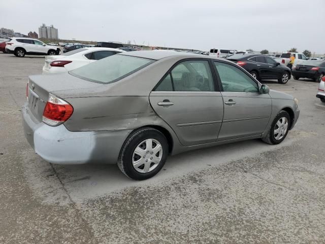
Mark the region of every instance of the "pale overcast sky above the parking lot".
[[1, 1], [0, 27], [38, 33], [42, 23], [61, 39], [325, 53], [325, 0]]

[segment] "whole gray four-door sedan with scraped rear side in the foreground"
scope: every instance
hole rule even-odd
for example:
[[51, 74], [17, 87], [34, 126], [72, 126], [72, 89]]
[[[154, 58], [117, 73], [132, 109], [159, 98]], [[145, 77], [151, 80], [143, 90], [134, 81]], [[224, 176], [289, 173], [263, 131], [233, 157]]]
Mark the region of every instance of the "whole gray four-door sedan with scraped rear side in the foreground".
[[22, 116], [44, 160], [117, 163], [141, 180], [187, 150], [254, 138], [278, 144], [299, 111], [297, 99], [228, 60], [157, 50], [30, 76]]

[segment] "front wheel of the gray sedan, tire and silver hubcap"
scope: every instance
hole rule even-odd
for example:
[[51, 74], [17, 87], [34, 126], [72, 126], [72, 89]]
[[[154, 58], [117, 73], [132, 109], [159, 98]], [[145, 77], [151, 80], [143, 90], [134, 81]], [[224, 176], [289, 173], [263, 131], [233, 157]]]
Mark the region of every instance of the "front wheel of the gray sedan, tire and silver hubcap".
[[290, 115], [288, 112], [281, 110], [274, 118], [272, 126], [268, 134], [262, 138], [262, 140], [268, 144], [279, 144], [281, 143], [290, 128]]

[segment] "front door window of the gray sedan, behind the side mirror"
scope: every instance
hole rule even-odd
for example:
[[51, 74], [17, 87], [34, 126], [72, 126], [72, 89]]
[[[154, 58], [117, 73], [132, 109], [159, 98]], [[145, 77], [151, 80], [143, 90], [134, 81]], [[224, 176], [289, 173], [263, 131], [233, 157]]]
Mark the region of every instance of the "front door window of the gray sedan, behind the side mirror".
[[257, 93], [257, 84], [240, 69], [224, 63], [214, 62], [224, 92]]

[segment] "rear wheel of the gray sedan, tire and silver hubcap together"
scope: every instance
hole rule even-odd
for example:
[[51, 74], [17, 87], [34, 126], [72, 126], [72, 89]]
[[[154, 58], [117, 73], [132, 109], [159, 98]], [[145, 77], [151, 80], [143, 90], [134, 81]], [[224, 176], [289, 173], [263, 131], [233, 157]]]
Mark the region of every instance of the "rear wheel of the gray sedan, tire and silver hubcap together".
[[126, 139], [117, 165], [129, 178], [148, 179], [163, 168], [168, 155], [168, 142], [163, 133], [143, 128]]

